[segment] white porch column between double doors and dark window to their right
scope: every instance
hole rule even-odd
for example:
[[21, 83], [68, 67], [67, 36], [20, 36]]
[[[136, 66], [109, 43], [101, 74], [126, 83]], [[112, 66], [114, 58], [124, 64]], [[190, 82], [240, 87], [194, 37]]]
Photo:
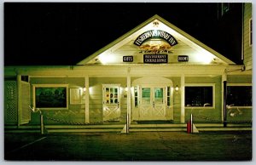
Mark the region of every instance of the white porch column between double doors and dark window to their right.
[[181, 95], [181, 101], [180, 101], [180, 122], [185, 122], [185, 77], [182, 74], [180, 77], [180, 95]]

